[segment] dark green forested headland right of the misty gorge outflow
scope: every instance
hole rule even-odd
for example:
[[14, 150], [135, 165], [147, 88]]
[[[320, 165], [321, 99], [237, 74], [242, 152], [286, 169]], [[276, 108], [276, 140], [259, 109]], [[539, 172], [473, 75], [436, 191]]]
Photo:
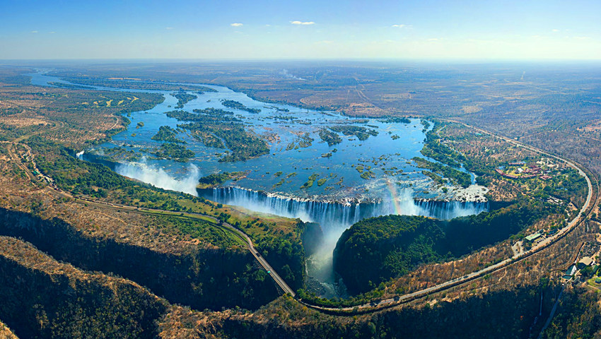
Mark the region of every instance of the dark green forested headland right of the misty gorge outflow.
[[408, 215], [361, 220], [338, 240], [334, 269], [350, 292], [366, 292], [421, 264], [448, 261], [508, 239], [551, 213], [561, 208], [520, 201], [453, 220]]

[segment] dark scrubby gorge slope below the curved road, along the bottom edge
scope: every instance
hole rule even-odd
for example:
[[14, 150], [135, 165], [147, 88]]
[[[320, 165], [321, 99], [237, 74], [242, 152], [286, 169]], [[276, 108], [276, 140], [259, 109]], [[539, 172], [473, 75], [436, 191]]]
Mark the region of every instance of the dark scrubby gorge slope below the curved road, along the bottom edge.
[[[533, 325], [539, 315], [541, 292], [542, 316]], [[192, 311], [190, 319], [198, 319], [198, 323], [202, 320], [210, 326], [199, 326], [199, 331], [180, 338], [210, 338], [211, 335], [265, 339], [530, 338], [530, 327], [533, 335], [539, 333], [557, 292], [558, 285], [525, 285], [516, 290], [497, 290], [452, 301], [436, 298], [420, 302], [421, 305], [358, 316], [328, 316], [282, 297], [250, 315]], [[178, 320], [183, 322], [183, 319], [186, 316]]]

